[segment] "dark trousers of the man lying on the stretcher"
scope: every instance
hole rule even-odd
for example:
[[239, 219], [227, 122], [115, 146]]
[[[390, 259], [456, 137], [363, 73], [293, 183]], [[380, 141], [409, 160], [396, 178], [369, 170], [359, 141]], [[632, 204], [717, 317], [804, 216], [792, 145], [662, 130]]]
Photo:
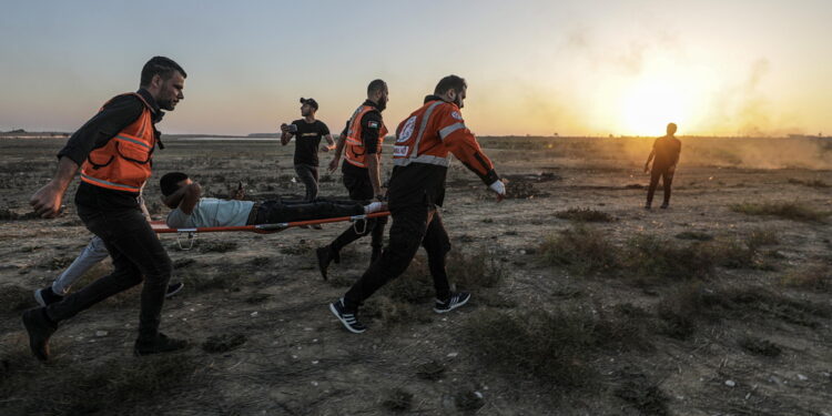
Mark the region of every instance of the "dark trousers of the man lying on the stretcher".
[[[364, 206], [354, 201], [317, 200], [315, 202], [273, 200], [255, 207], [248, 224], [276, 224], [292, 221], [332, 219], [364, 214]], [[250, 216], [251, 219], [251, 216]]]

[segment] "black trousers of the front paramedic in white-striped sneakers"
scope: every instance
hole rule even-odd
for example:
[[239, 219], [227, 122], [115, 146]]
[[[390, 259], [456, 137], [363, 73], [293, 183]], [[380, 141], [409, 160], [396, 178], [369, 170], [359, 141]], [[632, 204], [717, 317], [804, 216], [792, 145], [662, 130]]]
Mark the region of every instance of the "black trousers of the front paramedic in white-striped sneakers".
[[390, 211], [389, 244], [364, 275], [344, 295], [347, 310], [355, 311], [378, 288], [398, 277], [419, 250], [427, 252], [430, 276], [434, 278], [436, 297], [446, 300], [450, 296], [450, 285], [445, 271], [445, 256], [450, 251], [450, 240], [442, 217], [434, 206], [427, 204], [410, 205]]

